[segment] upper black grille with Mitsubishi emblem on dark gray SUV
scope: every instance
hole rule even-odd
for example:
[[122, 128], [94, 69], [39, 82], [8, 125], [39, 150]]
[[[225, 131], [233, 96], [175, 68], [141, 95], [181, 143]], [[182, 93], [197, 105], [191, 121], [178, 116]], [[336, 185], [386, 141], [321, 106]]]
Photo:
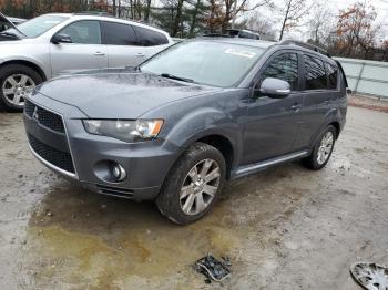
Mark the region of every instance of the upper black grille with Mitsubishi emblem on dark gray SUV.
[[24, 114], [29, 117], [35, 118], [42, 126], [59, 133], [64, 133], [64, 125], [60, 115], [38, 106], [28, 100], [24, 102]]

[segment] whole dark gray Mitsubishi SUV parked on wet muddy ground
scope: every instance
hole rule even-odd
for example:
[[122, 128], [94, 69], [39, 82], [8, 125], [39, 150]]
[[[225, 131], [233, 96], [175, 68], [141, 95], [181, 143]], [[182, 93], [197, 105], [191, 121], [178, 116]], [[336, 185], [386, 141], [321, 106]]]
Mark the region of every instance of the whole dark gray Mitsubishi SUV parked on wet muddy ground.
[[344, 127], [346, 79], [299, 44], [198, 39], [132, 69], [49, 81], [28, 96], [33, 155], [106, 195], [154, 199], [177, 224], [226, 179], [303, 159], [321, 169]]

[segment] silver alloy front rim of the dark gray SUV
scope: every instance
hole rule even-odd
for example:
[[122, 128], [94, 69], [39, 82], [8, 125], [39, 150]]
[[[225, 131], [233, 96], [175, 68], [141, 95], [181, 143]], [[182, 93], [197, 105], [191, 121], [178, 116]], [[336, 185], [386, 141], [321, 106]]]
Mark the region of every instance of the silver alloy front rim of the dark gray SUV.
[[184, 214], [193, 216], [204, 211], [214, 199], [221, 182], [221, 167], [213, 159], [194, 165], [183, 180], [180, 205]]

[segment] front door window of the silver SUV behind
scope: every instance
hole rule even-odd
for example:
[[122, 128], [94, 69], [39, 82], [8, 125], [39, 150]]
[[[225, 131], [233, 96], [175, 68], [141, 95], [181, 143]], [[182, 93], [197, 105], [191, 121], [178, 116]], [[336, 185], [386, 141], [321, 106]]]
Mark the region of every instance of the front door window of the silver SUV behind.
[[76, 21], [62, 29], [59, 33], [69, 35], [73, 43], [101, 44], [101, 29], [99, 21]]

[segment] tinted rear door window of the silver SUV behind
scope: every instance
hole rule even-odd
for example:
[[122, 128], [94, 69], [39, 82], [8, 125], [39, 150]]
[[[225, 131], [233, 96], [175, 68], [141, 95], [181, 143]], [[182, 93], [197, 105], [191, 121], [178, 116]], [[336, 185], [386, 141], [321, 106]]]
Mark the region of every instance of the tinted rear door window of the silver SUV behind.
[[108, 45], [139, 45], [132, 25], [104, 21], [102, 29], [104, 43]]

